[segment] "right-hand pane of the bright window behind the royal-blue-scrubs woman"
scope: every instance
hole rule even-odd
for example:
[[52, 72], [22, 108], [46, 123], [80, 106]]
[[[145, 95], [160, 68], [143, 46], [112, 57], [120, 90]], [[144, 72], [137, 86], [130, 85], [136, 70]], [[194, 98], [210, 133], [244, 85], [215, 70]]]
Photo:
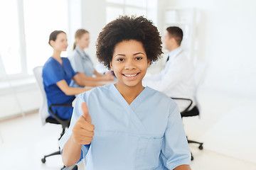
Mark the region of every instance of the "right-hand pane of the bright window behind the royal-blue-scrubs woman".
[[[27, 72], [43, 65], [53, 51], [48, 44], [53, 30], [68, 31], [68, 1], [23, 0]], [[66, 52], [62, 56], [66, 57]]]

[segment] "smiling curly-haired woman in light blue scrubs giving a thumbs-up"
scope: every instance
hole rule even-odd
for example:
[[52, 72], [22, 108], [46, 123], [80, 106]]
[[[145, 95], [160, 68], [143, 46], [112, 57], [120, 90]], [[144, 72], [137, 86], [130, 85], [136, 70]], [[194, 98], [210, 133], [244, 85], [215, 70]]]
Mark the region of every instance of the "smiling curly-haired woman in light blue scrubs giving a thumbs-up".
[[84, 158], [87, 170], [191, 169], [176, 103], [142, 86], [146, 69], [161, 54], [159, 32], [142, 16], [121, 16], [102, 29], [97, 58], [117, 83], [78, 96], [60, 140], [65, 166]]

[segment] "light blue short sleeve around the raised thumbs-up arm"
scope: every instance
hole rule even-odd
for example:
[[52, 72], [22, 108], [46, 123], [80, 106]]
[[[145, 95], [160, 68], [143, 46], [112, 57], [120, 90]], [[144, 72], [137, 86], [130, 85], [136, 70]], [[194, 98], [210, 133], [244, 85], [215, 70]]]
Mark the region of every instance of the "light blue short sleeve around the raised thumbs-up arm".
[[[81, 109], [82, 102], [85, 102], [85, 101], [82, 99], [82, 94], [80, 94], [77, 97], [77, 100], [75, 101], [75, 107], [74, 107], [73, 115], [72, 115], [72, 118], [70, 121], [70, 126], [69, 126], [68, 130], [65, 132], [65, 134], [63, 135], [63, 137], [60, 138], [59, 146], [60, 146], [61, 151], [63, 150], [65, 143], [71, 137], [72, 130], [73, 130], [73, 127], [74, 127], [76, 121], [78, 120], [80, 115], [82, 115], [82, 109]], [[85, 155], [87, 154], [87, 152], [89, 150], [89, 147], [90, 147], [90, 145], [82, 145], [82, 157], [85, 157]]]

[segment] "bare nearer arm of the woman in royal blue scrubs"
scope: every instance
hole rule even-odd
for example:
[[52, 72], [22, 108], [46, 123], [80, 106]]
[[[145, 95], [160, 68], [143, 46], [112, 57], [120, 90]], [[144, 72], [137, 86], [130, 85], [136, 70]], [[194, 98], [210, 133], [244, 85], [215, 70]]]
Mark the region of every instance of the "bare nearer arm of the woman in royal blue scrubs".
[[84, 88], [70, 87], [70, 86], [68, 86], [67, 81], [65, 81], [64, 79], [58, 81], [56, 83], [56, 85], [67, 96], [73, 96], [73, 95], [77, 95], [77, 94], [82, 94], [82, 92], [90, 90], [89, 88], [84, 89]]

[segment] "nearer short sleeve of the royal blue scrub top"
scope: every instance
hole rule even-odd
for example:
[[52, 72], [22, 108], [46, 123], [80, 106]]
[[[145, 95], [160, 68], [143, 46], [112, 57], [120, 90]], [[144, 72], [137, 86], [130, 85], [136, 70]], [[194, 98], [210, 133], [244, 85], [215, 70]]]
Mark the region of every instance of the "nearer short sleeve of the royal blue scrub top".
[[63, 70], [53, 62], [48, 62], [43, 66], [43, 82], [46, 86], [55, 84], [63, 79], [65, 79]]

